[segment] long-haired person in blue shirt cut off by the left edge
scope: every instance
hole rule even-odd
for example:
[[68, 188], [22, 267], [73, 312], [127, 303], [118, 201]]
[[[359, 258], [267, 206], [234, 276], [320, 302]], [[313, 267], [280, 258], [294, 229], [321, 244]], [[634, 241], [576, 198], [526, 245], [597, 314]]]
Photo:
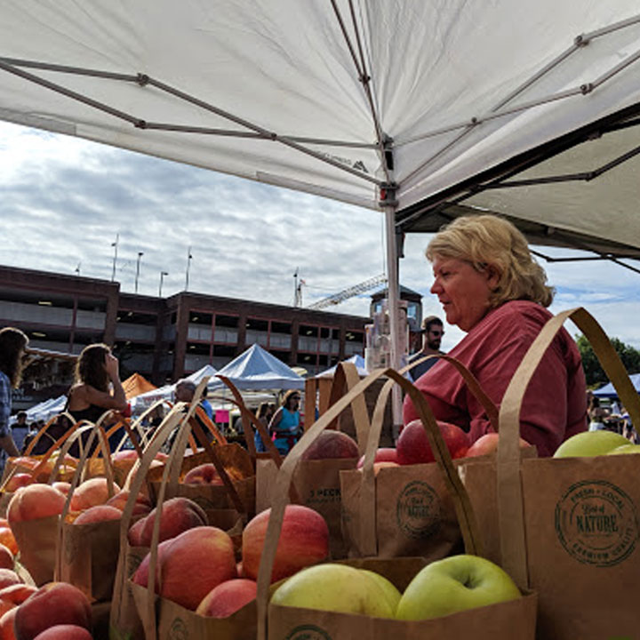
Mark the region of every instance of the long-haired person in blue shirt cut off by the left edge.
[[28, 345], [26, 333], [14, 327], [0, 329], [0, 447], [9, 456], [20, 452], [13, 442], [9, 428], [12, 407], [12, 389], [22, 380], [22, 366]]

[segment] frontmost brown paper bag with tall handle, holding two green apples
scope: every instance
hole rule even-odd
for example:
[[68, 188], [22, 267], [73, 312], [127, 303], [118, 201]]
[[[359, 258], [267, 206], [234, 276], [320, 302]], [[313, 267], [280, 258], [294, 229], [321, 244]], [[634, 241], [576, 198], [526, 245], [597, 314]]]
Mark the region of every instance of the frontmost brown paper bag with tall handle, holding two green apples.
[[[468, 637], [493, 640], [493, 638], [513, 638], [513, 640], [533, 640], [535, 636], [536, 596], [525, 593], [524, 597], [508, 603], [495, 604], [488, 607], [455, 613], [436, 620], [407, 622], [404, 620], [382, 620], [368, 616], [321, 612], [311, 609], [284, 607], [271, 604], [268, 606], [268, 584], [273, 570], [280, 528], [284, 517], [288, 486], [292, 481], [293, 470], [302, 452], [313, 442], [316, 436], [326, 428], [329, 422], [342, 411], [356, 393], [362, 393], [368, 384], [382, 374], [396, 380], [412, 396], [413, 403], [420, 413], [420, 418], [427, 430], [429, 443], [434, 451], [437, 464], [443, 470], [443, 476], [452, 495], [456, 511], [460, 518], [460, 531], [468, 553], [481, 555], [481, 543], [477, 536], [477, 527], [473, 510], [460, 478], [452, 465], [442, 435], [436, 425], [428, 404], [420, 391], [414, 388], [401, 374], [393, 370], [374, 372], [362, 383], [358, 384], [347, 396], [332, 408], [309, 429], [284, 460], [276, 478], [276, 500], [268, 523], [260, 573], [258, 577], [258, 638], [259, 640], [301, 640], [302, 638], [398, 638], [399, 640], [428, 640], [429, 638], [449, 638], [451, 640], [467, 640]], [[371, 444], [371, 451], [370, 451]], [[367, 444], [367, 454], [375, 449], [375, 443]], [[368, 468], [367, 468], [368, 467]], [[421, 466], [420, 466], [421, 467]], [[372, 464], [366, 465], [364, 474], [372, 474]], [[364, 484], [366, 488], [367, 484]], [[372, 528], [366, 529], [372, 536]], [[375, 532], [373, 531], [373, 534]], [[351, 564], [352, 561], [348, 561]], [[366, 564], [365, 564], [366, 563]], [[425, 564], [423, 558], [366, 559], [356, 561], [356, 565], [379, 571], [398, 588], [406, 584]], [[267, 611], [268, 608], [268, 611]], [[268, 628], [267, 628], [268, 613]]]

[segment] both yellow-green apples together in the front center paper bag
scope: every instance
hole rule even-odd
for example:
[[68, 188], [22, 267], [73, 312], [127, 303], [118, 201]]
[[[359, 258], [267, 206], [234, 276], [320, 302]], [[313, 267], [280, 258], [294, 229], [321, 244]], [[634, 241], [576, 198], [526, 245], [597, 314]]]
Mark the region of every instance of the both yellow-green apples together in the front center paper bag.
[[450, 556], [418, 572], [404, 593], [378, 573], [347, 564], [309, 567], [276, 589], [272, 604], [396, 620], [429, 620], [521, 597], [500, 566]]

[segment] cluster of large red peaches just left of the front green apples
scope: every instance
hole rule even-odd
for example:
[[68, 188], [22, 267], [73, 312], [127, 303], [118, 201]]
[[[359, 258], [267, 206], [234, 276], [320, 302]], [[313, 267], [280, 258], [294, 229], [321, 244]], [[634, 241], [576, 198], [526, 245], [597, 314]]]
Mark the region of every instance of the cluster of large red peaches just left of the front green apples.
[[[139, 531], [130, 530], [130, 542], [150, 539], [155, 516], [152, 511], [140, 520], [143, 524], [138, 524]], [[206, 516], [195, 502], [187, 498], [167, 500], [160, 516], [161, 542], [157, 549], [160, 595], [211, 618], [226, 618], [252, 602], [256, 597], [269, 516], [270, 509], [267, 509], [247, 524], [243, 532], [242, 559], [236, 563], [231, 538], [221, 529], [206, 525]], [[175, 534], [183, 527], [187, 528]], [[138, 535], [140, 539], [135, 537]], [[324, 518], [311, 508], [288, 505], [272, 582], [322, 562], [328, 554], [329, 531]], [[149, 563], [150, 553], [133, 575], [135, 584], [148, 586]]]

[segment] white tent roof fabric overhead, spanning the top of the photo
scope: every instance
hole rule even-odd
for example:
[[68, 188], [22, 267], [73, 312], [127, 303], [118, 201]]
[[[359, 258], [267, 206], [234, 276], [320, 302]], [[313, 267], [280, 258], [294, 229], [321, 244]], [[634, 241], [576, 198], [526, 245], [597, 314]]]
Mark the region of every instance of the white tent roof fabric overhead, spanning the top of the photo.
[[404, 230], [464, 204], [640, 249], [640, 128], [565, 140], [640, 113], [636, 0], [20, 0], [0, 43], [6, 121], [374, 210], [391, 185]]

